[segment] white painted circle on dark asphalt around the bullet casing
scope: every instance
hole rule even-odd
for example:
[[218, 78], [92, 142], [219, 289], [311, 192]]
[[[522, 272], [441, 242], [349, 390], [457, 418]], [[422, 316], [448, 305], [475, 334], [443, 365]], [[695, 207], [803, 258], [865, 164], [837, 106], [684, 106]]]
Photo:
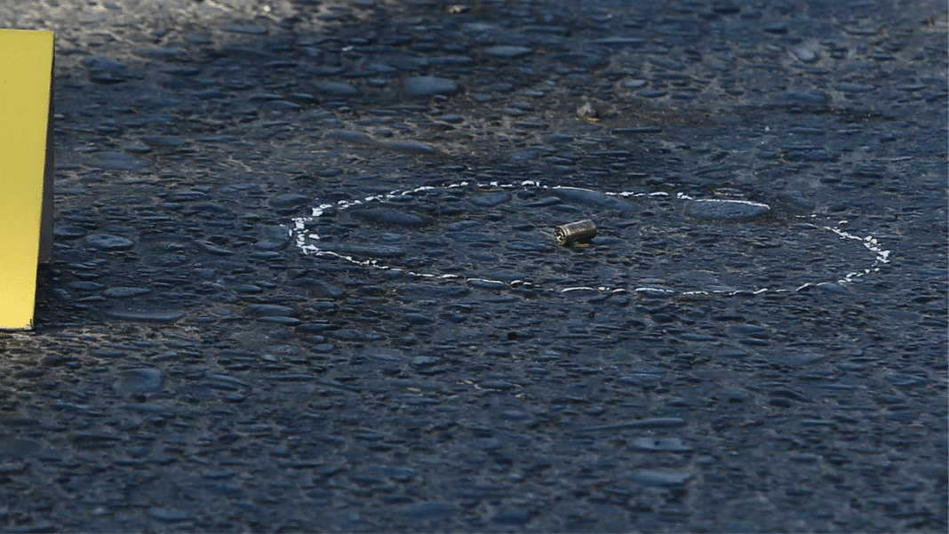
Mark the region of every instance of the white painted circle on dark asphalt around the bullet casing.
[[[486, 247], [496, 244], [499, 249], [503, 249], [502, 251], [535, 255], [549, 253], [557, 249], [553, 243], [552, 235], [553, 227], [556, 226], [555, 224], [550, 224], [549, 229], [535, 229], [535, 235], [532, 235], [530, 239], [523, 238], [523, 234], [525, 233], [523, 231], [512, 231], [512, 233], [517, 233], [520, 236], [520, 240], [514, 239], [513, 241], [507, 242], [506, 248], [503, 248], [505, 243], [502, 243], [503, 236], [498, 234], [498, 230], [475, 231], [478, 230], [477, 227], [480, 223], [471, 219], [453, 221], [452, 224], [447, 224], [444, 228], [434, 224], [421, 228], [412, 228], [411, 232], [414, 233], [411, 233], [411, 238], [405, 238], [404, 243], [394, 242], [404, 236], [401, 236], [399, 233], [392, 233], [392, 230], [383, 231], [376, 229], [379, 231], [379, 242], [376, 244], [366, 244], [364, 242], [345, 243], [344, 241], [323, 242], [319, 234], [311, 230], [314, 227], [320, 226], [321, 223], [331, 226], [329, 222], [331, 219], [325, 218], [324, 215], [330, 212], [340, 213], [346, 211], [350, 211], [349, 213], [354, 215], [352, 220], [360, 221], [365, 224], [367, 228], [373, 223], [385, 223], [390, 220], [396, 223], [411, 221], [413, 225], [395, 225], [401, 230], [408, 230], [410, 227], [413, 227], [418, 220], [411, 218], [407, 212], [402, 212], [402, 210], [404, 210], [406, 204], [411, 202], [414, 196], [419, 193], [453, 191], [454, 193], [468, 194], [474, 198], [474, 194], [479, 193], [515, 193], [519, 190], [527, 189], [533, 190], [535, 193], [546, 192], [549, 193], [549, 196], [543, 198], [539, 195], [534, 195], [529, 202], [525, 202], [523, 205], [524, 209], [541, 207], [542, 209], [557, 210], [559, 205], [559, 209], [564, 212], [577, 211], [578, 213], [576, 215], [561, 215], [558, 213], [556, 215], [557, 217], [566, 218], [573, 216], [577, 220], [588, 218], [586, 214], [581, 215], [581, 213], [579, 213], [579, 211], [586, 209], [587, 212], [590, 210], [594, 213], [599, 212], [604, 218], [621, 217], [626, 226], [645, 225], [646, 218], [642, 216], [643, 214], [659, 212], [660, 210], [656, 208], [659, 207], [661, 203], [666, 206], [671, 205], [675, 207], [677, 211], [684, 214], [683, 221], [694, 221], [694, 224], [698, 224], [699, 226], [709, 226], [709, 228], [714, 227], [717, 229], [709, 230], [709, 232], [720, 236], [721, 242], [716, 244], [716, 250], [725, 249], [722, 255], [726, 258], [735, 255], [735, 253], [726, 249], [729, 246], [730, 240], [733, 239], [733, 233], [735, 233], [735, 231], [728, 229], [735, 228], [733, 226], [735, 224], [755, 224], [769, 219], [772, 215], [772, 209], [767, 204], [740, 199], [697, 199], [684, 193], [673, 195], [670, 193], [597, 192], [576, 187], [545, 186], [533, 180], [527, 180], [520, 184], [502, 184], [498, 182], [474, 184], [463, 181], [440, 187], [424, 186], [412, 190], [396, 190], [390, 193], [369, 195], [357, 200], [340, 200], [331, 203], [317, 202], [316, 207], [312, 208], [310, 216], [296, 217], [292, 220], [292, 223], [288, 225], [289, 232], [292, 242], [297, 249], [306, 255], [318, 258], [336, 258], [363, 267], [382, 270], [399, 270], [404, 274], [419, 278], [457, 281], [472, 286], [477, 286], [473, 285], [475, 282], [480, 285], [489, 283], [493, 288], [500, 287], [501, 285], [508, 287], [529, 286], [569, 295], [637, 292], [645, 298], [669, 298], [674, 296], [694, 297], [714, 293], [762, 294], [766, 292], [798, 292], [807, 290], [810, 287], [816, 287], [818, 289], [832, 288], [834, 291], [829, 292], [846, 294], [849, 285], [859, 282], [860, 279], [873, 272], [879, 271], [881, 266], [890, 262], [890, 250], [885, 249], [884, 245], [877, 238], [872, 235], [861, 236], [857, 233], [844, 230], [844, 228], [847, 227], [847, 221], [836, 220], [831, 222], [826, 215], [811, 213], [795, 215], [797, 222], [793, 225], [794, 235], [807, 237], [810, 241], [803, 244], [795, 243], [793, 239], [786, 239], [786, 241], [790, 246], [800, 246], [802, 248], [801, 253], [804, 253], [806, 249], [820, 249], [821, 251], [815, 251], [814, 254], [827, 255], [834, 251], [845, 254], [846, 257], [833, 258], [834, 261], [829, 262], [831, 267], [834, 268], [833, 273], [821, 274], [819, 272], [809, 272], [807, 276], [802, 278], [799, 282], [785, 280], [782, 282], [782, 284], [784, 284], [782, 286], [770, 286], [761, 285], [760, 283], [743, 282], [744, 279], [740, 273], [735, 274], [735, 272], [732, 272], [734, 269], [723, 267], [720, 269], [723, 273], [723, 277], [729, 275], [733, 278], [737, 278], [729, 283], [708, 280], [701, 283], [685, 284], [688, 286], [677, 288], [675, 284], [671, 284], [670, 286], [666, 284], [664, 280], [659, 280], [660, 276], [657, 276], [657, 273], [653, 272], [651, 275], [644, 275], [640, 283], [618, 284], [615, 279], [602, 283], [590, 283], [587, 280], [583, 285], [550, 288], [544, 287], [544, 284], [541, 282], [531, 280], [530, 276], [516, 280], [496, 280], [486, 274], [486, 272], [492, 270], [491, 268], [471, 264], [465, 265], [465, 268], [459, 268], [461, 266], [455, 262], [455, 258], [453, 257], [442, 258], [437, 261], [432, 260], [430, 262], [432, 266], [426, 268], [412, 268], [403, 262], [411, 258], [411, 253], [409, 252], [418, 250], [414, 248], [413, 239], [417, 237], [420, 240], [439, 239], [446, 235], [451, 236], [456, 243], [473, 244], [472, 246], [474, 247]], [[469, 204], [476, 206], [481, 203], [469, 202]], [[510, 202], [502, 204], [509, 206]], [[653, 204], [655, 204], [655, 206], [653, 206]], [[564, 207], [565, 205], [567, 208]], [[579, 208], [575, 207], [577, 205], [579, 205]], [[398, 209], [396, 207], [398, 207]], [[396, 215], [398, 215], [398, 217]], [[552, 217], [553, 215], [549, 215], [548, 218]], [[650, 220], [652, 221], [652, 219], [655, 218], [656, 217], [650, 217]], [[652, 224], [656, 226], [660, 223], [661, 221], [652, 221]], [[458, 231], [461, 227], [464, 228]], [[396, 230], [399, 229], [397, 228]], [[815, 237], [817, 239], [816, 242], [813, 241]], [[859, 245], [866, 253], [858, 255], [854, 251], [856, 249], [843, 247], [840, 242], [854, 246]], [[612, 244], [617, 244], [618, 246], [623, 245], [623, 240], [608, 235], [601, 235], [596, 238], [594, 245], [598, 243], [605, 245], [605, 248], [609, 249]], [[647, 245], [647, 243], [642, 244], [643, 247]], [[738, 245], [735, 245], [735, 247], [738, 247]], [[768, 246], [762, 245], [761, 247], [766, 249]], [[449, 245], [448, 248], [450, 249], [451, 245]], [[687, 247], [681, 249], [688, 250]], [[697, 254], [703, 253], [698, 246], [693, 249]], [[389, 250], [396, 250], [399, 251], [399, 253], [389, 253]], [[795, 249], [793, 252], [795, 256], [800, 257], [800, 262], [803, 264], [810, 263], [807, 257], [801, 257], [798, 254], [798, 250]], [[485, 249], [483, 253], [490, 255], [492, 252], [491, 249]], [[767, 252], [764, 252], [764, 254], [767, 254]], [[449, 254], [449, 256], [451, 256], [451, 254]], [[613, 256], [615, 256], [615, 254]], [[854, 264], [852, 261], [854, 257], [863, 258], [862, 261], [856, 262], [862, 265], [850, 265]], [[816, 262], [820, 259], [821, 258], [815, 258], [814, 261]], [[703, 259], [703, 261], [705, 264], [703, 264], [703, 262], [695, 262], [694, 264], [698, 266], [711, 266], [713, 263], [712, 258]], [[604, 256], [602, 263], [606, 269], [628, 270], [626, 267], [617, 266], [616, 259], [614, 258]], [[662, 272], [661, 278], [691, 281], [692, 279], [690, 277], [695, 277], [694, 273], [696, 271], [690, 271], [689, 273], [677, 272], [676, 267], [678, 265], [679, 264], [670, 260], [666, 264], [662, 264], [661, 267], [657, 267], [660, 268], [660, 270], [664, 269], [668, 271]], [[746, 272], [745, 274], [747, 275], [749, 273]], [[772, 273], [762, 272], [754, 274], [763, 276]], [[762, 278], [762, 276], [747, 276], [747, 278]], [[698, 284], [698, 286], [696, 284]]]

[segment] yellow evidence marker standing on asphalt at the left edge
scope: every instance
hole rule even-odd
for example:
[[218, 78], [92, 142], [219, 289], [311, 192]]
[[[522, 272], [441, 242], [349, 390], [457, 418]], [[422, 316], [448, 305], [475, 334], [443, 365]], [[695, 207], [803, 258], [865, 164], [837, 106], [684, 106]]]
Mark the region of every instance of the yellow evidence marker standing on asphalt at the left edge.
[[0, 329], [33, 326], [52, 261], [53, 33], [0, 29]]

